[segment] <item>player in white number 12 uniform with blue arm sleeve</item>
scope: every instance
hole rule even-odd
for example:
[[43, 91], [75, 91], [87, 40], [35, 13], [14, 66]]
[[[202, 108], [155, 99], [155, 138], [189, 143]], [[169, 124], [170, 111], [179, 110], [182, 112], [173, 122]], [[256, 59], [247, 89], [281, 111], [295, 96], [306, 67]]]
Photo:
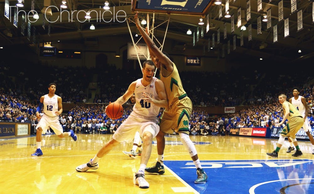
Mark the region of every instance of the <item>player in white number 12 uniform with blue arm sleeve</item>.
[[[59, 115], [62, 113], [62, 98], [55, 94], [56, 84], [51, 83], [48, 85], [49, 94], [41, 96], [39, 106], [36, 109], [36, 117], [39, 120], [36, 127], [36, 144], [37, 149], [31, 156], [43, 155], [41, 151], [41, 134], [47, 132], [50, 126], [58, 137], [71, 136], [74, 141], [77, 140], [73, 130], [70, 132], [63, 132], [63, 128], [59, 122]], [[41, 109], [43, 108], [44, 114], [41, 116]]]

